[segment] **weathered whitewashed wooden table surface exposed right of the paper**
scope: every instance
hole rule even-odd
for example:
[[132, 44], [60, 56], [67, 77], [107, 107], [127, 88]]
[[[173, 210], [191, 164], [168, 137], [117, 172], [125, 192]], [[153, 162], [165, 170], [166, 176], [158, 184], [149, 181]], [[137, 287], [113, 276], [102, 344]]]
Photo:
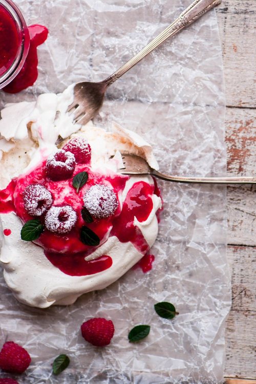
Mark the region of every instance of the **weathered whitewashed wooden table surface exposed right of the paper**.
[[[217, 17], [226, 87], [227, 170], [233, 176], [256, 175], [256, 1], [222, 0]], [[226, 323], [227, 384], [256, 383], [255, 197], [255, 186], [227, 188], [232, 282]]]

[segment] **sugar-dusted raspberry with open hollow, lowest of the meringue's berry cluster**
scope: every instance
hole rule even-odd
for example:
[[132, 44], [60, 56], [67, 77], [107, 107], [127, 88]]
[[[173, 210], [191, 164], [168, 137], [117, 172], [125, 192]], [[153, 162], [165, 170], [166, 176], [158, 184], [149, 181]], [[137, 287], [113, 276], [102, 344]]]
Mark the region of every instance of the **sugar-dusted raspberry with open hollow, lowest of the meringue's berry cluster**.
[[76, 222], [76, 211], [70, 205], [51, 207], [45, 218], [46, 228], [60, 234], [70, 232]]

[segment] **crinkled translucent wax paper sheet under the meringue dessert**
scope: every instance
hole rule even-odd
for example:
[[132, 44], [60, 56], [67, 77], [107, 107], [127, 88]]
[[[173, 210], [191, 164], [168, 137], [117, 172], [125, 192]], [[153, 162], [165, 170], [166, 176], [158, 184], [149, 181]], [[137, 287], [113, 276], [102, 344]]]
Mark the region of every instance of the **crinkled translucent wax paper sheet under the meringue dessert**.
[[[28, 24], [49, 28], [39, 47], [39, 76], [9, 101], [62, 92], [83, 79], [102, 80], [172, 22], [190, 0], [19, 0]], [[223, 68], [215, 11], [169, 39], [114, 83], [95, 123], [114, 120], [150, 142], [166, 173], [225, 175]], [[159, 182], [164, 200], [153, 269], [133, 269], [110, 287], [74, 305], [46, 310], [19, 304], [1, 273], [1, 344], [23, 345], [32, 357], [22, 383], [219, 383], [225, 317], [230, 306], [225, 254], [225, 187]], [[154, 304], [173, 303], [179, 315], [159, 317]], [[111, 318], [110, 346], [86, 343], [79, 327]], [[129, 330], [151, 325], [138, 344]], [[69, 368], [51, 364], [67, 353]], [[8, 374], [0, 373], [1, 377]]]

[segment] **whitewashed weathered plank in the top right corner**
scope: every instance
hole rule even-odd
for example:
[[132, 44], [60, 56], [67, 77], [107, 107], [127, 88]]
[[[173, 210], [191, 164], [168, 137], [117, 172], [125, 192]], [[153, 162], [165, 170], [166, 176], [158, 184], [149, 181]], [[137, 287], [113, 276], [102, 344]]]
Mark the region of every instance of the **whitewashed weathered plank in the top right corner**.
[[216, 10], [223, 51], [226, 104], [255, 107], [256, 2], [222, 0]]

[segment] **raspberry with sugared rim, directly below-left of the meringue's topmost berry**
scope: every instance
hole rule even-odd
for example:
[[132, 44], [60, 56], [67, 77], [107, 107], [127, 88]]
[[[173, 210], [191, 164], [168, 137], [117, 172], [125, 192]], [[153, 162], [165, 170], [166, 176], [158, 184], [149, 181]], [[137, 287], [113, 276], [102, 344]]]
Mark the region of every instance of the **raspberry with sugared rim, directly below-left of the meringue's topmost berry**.
[[69, 179], [75, 170], [76, 160], [71, 152], [58, 150], [46, 162], [46, 174], [54, 181]]

